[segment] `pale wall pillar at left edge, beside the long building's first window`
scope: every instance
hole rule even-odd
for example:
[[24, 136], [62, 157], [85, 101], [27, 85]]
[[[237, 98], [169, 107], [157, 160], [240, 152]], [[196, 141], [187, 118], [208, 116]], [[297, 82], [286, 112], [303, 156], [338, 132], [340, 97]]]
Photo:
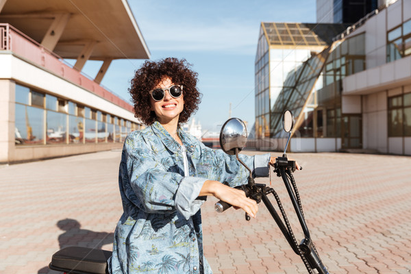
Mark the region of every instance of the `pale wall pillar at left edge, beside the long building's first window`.
[[10, 162], [14, 153], [14, 90], [16, 84], [0, 79], [0, 163]]

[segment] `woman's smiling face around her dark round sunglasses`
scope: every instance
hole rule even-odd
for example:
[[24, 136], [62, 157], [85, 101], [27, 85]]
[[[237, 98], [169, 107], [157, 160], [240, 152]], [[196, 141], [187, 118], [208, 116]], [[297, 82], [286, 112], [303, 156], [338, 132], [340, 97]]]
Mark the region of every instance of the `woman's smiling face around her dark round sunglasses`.
[[170, 95], [169, 88], [173, 85], [179, 85], [179, 83], [173, 83], [169, 77], [164, 77], [164, 79], [153, 88], [166, 89], [164, 99], [155, 101], [150, 96], [151, 110], [155, 112], [155, 116], [157, 116], [161, 124], [170, 123], [173, 120], [177, 120], [176, 122], [178, 123], [179, 114], [184, 109], [183, 95], [179, 98], [173, 98]]

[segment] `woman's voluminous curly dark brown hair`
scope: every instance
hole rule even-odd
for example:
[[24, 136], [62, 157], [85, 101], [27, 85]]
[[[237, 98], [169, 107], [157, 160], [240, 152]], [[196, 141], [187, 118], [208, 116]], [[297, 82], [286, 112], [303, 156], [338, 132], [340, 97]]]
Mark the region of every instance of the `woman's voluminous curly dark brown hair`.
[[155, 112], [151, 111], [149, 91], [153, 90], [164, 77], [169, 77], [174, 84], [183, 86], [184, 110], [179, 114], [178, 122], [188, 121], [201, 102], [201, 93], [197, 90], [198, 73], [192, 71], [191, 66], [187, 60], [177, 58], [144, 62], [136, 71], [132, 86], [129, 88], [134, 103], [134, 116], [146, 125], [157, 121]]

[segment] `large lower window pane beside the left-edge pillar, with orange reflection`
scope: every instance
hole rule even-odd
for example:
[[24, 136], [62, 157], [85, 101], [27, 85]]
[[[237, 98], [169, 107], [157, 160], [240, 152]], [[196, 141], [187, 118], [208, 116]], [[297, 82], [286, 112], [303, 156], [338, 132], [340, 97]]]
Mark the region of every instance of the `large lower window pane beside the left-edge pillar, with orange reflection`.
[[16, 104], [14, 138], [16, 145], [42, 145], [44, 110]]

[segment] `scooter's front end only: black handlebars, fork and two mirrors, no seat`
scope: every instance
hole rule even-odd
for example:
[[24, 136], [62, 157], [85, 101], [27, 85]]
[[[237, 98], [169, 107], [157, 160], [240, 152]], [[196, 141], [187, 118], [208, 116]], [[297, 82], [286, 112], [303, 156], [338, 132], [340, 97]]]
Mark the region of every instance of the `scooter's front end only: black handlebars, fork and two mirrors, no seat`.
[[[304, 218], [297, 184], [295, 184], [295, 179], [292, 176], [292, 173], [296, 170], [295, 161], [288, 160], [286, 155], [288, 143], [290, 142], [291, 138], [291, 131], [295, 123], [294, 116], [292, 115], [292, 112], [290, 112], [290, 110], [286, 110], [284, 112], [282, 123], [284, 131], [288, 133], [288, 139], [282, 157], [278, 157], [275, 161], [274, 172], [278, 177], [282, 177], [282, 180], [288, 192], [288, 196], [290, 196], [292, 206], [295, 210], [295, 213], [297, 214], [297, 218], [303, 230], [304, 238], [300, 243], [298, 243], [295, 239], [295, 235], [292, 232], [288, 217], [282, 206], [281, 200], [277, 195], [277, 192], [275, 192], [273, 188], [270, 188], [265, 184], [256, 184], [253, 177], [251, 176], [251, 169], [249, 169], [249, 167], [244, 164], [244, 162], [242, 162], [240, 158], [238, 158], [238, 153], [245, 147], [245, 144], [247, 142], [247, 129], [245, 127], [245, 124], [240, 119], [232, 118], [225, 122], [225, 124], [221, 128], [220, 146], [225, 153], [229, 155], [236, 155], [238, 162], [245, 166], [245, 168], [250, 172], [248, 184], [242, 185], [237, 188], [242, 189], [247, 197], [255, 200], [257, 203], [260, 203], [261, 201], [264, 203], [271, 216], [273, 216], [275, 223], [277, 223], [282, 234], [288, 241], [288, 244], [290, 245], [292, 250], [301, 257], [301, 260], [303, 260], [308, 273], [312, 274], [314, 273], [313, 271], [316, 270], [319, 274], [329, 274], [327, 268], [319, 257], [319, 253], [316, 251], [314, 242], [312, 242], [310, 232]], [[300, 169], [302, 168], [300, 167]], [[273, 196], [275, 197], [279, 211], [281, 212], [284, 221], [279, 217], [279, 214], [269, 200], [269, 194], [273, 194]], [[215, 204], [216, 212], [224, 212], [225, 210], [227, 210], [227, 208], [230, 207], [231, 205], [225, 203], [224, 201], [219, 201]], [[247, 221], [250, 220], [250, 216], [247, 213], [245, 214], [245, 219]]]

